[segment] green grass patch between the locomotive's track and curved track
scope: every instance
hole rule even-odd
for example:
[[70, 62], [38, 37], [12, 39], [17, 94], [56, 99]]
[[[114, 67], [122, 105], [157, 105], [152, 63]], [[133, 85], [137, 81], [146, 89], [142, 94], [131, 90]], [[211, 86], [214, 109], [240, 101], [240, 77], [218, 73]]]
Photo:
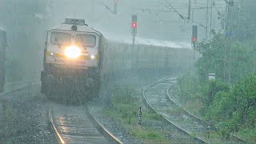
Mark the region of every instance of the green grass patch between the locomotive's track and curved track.
[[[170, 143], [166, 138], [165, 132], [156, 130], [146, 122], [161, 120], [161, 116], [147, 110], [142, 110], [142, 126], [138, 125], [138, 109], [141, 102], [138, 91], [130, 88], [115, 88], [112, 90], [111, 104], [109, 108], [102, 113], [121, 122], [122, 125], [130, 131], [135, 138], [146, 143]], [[145, 109], [145, 108], [143, 108]]]

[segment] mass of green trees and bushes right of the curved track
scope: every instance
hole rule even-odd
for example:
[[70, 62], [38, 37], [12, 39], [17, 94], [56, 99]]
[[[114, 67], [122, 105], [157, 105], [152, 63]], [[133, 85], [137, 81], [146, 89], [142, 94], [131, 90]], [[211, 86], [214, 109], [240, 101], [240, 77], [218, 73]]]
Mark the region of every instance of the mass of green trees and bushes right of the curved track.
[[[174, 93], [194, 114], [214, 124], [222, 138], [238, 134], [256, 142], [256, 35], [255, 3], [235, 1], [228, 8], [226, 34], [213, 34], [211, 42], [195, 48], [202, 57], [195, 74], [178, 79]], [[212, 33], [214, 30], [212, 30]], [[209, 81], [208, 74], [216, 74]]]

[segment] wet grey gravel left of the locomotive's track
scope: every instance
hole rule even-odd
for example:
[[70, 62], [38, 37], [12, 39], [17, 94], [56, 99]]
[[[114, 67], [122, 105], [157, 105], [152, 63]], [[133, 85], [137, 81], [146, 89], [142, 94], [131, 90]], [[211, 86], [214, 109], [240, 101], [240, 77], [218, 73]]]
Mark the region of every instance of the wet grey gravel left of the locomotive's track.
[[0, 143], [57, 143], [39, 86], [0, 97]]

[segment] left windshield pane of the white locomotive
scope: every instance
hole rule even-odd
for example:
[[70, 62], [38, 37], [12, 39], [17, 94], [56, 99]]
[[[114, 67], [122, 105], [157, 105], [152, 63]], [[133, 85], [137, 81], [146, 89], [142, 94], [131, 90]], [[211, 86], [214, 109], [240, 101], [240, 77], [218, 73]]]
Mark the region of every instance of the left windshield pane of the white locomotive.
[[54, 31], [50, 34], [50, 42], [53, 44], [69, 45], [71, 43], [71, 34]]

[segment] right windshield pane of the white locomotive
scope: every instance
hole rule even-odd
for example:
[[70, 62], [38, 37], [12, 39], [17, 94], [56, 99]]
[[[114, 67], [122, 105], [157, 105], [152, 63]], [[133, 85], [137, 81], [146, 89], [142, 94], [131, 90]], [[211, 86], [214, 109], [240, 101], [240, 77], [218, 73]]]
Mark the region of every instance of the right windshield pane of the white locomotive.
[[96, 45], [96, 37], [93, 34], [76, 34], [75, 43], [77, 45], [94, 47]]

